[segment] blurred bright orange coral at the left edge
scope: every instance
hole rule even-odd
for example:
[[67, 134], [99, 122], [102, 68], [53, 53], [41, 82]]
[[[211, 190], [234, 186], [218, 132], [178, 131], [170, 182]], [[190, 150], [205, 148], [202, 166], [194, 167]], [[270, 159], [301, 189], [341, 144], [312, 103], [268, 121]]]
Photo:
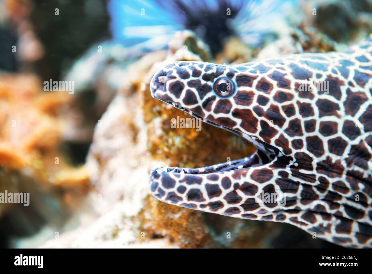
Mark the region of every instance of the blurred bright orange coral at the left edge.
[[67, 92], [42, 92], [32, 75], [0, 76], [0, 166], [27, 170], [39, 183], [86, 187], [83, 168], [73, 168], [59, 151], [63, 122], [58, 109], [70, 103]]

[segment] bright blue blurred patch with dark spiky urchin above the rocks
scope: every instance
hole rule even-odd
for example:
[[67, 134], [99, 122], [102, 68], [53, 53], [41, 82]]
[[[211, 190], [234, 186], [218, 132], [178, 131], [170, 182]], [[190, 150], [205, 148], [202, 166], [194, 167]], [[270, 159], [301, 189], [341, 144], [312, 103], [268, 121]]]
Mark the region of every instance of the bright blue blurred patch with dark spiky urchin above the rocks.
[[295, 0], [111, 0], [108, 10], [113, 39], [126, 47], [146, 41], [150, 48], [166, 47], [174, 32], [189, 29], [215, 54], [231, 36], [259, 47], [266, 35], [283, 29], [286, 11], [296, 5]]

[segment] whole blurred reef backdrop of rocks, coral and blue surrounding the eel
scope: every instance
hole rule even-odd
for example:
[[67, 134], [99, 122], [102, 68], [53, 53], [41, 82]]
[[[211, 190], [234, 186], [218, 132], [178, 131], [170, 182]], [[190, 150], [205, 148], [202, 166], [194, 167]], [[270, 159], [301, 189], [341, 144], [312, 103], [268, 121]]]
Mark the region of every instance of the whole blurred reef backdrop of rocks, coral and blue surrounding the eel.
[[371, 32], [370, 0], [0, 0], [0, 192], [30, 197], [0, 203], [0, 247], [338, 247], [152, 197], [157, 166], [255, 148], [208, 124], [171, 128], [188, 116], [153, 99], [149, 83], [163, 62], [337, 51]]

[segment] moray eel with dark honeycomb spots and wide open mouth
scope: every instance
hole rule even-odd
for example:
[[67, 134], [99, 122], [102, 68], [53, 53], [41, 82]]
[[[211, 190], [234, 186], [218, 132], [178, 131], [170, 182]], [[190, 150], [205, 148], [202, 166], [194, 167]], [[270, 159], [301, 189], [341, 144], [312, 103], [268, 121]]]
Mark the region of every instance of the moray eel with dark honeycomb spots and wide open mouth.
[[150, 89], [257, 147], [228, 163], [155, 169], [156, 198], [372, 247], [372, 36], [343, 52], [176, 62], [155, 73]]

